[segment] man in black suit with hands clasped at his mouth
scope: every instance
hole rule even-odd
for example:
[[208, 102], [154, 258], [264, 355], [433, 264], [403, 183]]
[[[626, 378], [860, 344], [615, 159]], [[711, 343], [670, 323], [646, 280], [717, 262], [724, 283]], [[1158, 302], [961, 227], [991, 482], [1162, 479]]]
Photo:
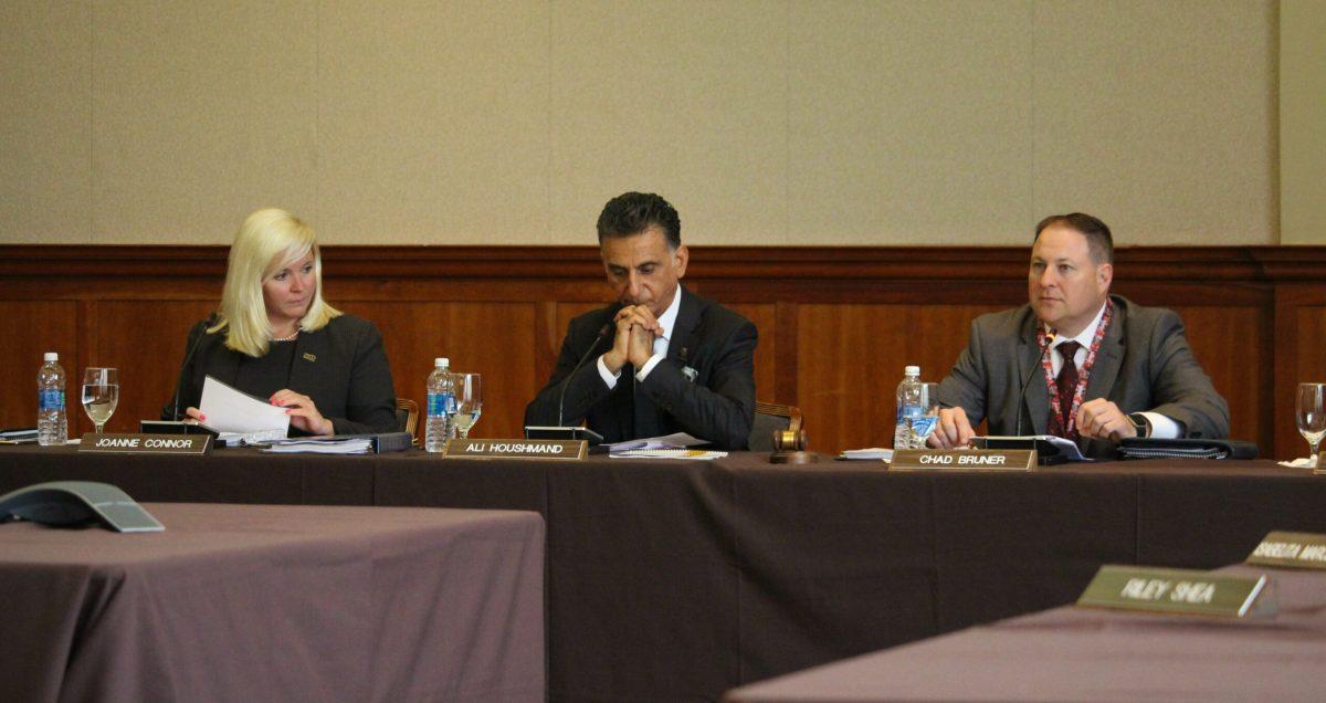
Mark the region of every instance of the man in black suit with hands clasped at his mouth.
[[598, 243], [617, 302], [572, 320], [525, 424], [583, 420], [607, 442], [680, 431], [745, 448], [756, 329], [680, 285], [690, 253], [676, 210], [658, 195], [619, 195], [598, 218]]

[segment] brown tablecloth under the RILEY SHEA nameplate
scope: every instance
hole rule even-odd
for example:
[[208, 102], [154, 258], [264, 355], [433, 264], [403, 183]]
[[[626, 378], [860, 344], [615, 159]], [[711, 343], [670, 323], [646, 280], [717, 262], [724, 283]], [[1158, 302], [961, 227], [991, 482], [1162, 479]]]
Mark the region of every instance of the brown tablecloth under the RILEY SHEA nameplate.
[[1065, 606], [731, 691], [731, 703], [1322, 700], [1326, 573], [1274, 580], [1280, 611], [1231, 621]]

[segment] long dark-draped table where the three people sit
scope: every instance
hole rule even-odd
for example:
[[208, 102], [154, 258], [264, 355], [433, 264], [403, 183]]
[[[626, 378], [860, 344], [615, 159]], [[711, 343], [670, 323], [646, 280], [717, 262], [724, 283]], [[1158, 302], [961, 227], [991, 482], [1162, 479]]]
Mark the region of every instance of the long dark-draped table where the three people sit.
[[1326, 532], [1326, 479], [1272, 462], [1033, 472], [879, 463], [0, 450], [0, 491], [532, 509], [548, 521], [549, 698], [712, 700], [780, 674], [1071, 602], [1103, 562], [1215, 568]]

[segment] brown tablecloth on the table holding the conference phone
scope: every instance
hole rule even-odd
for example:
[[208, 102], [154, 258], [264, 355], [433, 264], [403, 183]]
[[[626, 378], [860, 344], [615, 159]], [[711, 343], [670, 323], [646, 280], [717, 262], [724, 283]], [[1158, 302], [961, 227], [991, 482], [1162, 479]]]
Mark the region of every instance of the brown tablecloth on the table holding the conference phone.
[[145, 507], [0, 525], [4, 699], [544, 699], [537, 515]]

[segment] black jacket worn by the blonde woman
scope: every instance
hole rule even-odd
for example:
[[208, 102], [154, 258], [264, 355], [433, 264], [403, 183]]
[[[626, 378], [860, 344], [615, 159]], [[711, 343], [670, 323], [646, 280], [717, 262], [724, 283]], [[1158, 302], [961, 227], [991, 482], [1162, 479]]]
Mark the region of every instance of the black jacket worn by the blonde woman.
[[[198, 350], [182, 374], [180, 414], [186, 407], [198, 407], [204, 377], [211, 375], [233, 386], [244, 355], [225, 348], [224, 329], [215, 334], [206, 330], [207, 325], [199, 324], [188, 336], [186, 354], [195, 344]], [[398, 430], [396, 391], [387, 354], [382, 349], [382, 334], [373, 322], [342, 314], [317, 332], [301, 332], [294, 345], [286, 387], [312, 398], [338, 435]], [[251, 389], [239, 390], [253, 393]], [[162, 410], [162, 419], [174, 419], [172, 411], [174, 405], [168, 402]]]

